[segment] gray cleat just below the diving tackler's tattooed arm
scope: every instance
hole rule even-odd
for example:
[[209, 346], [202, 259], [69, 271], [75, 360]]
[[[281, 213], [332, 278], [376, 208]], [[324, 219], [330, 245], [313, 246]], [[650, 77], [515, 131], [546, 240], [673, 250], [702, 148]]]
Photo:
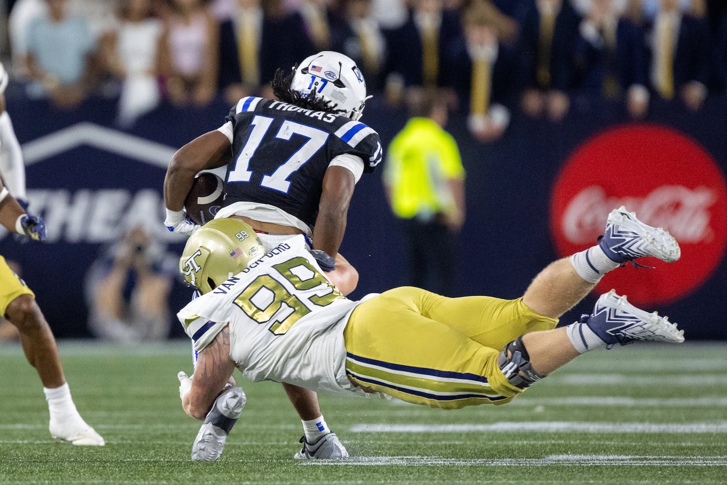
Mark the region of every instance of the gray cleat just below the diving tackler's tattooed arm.
[[192, 460], [211, 462], [222, 455], [228, 434], [245, 403], [242, 388], [229, 388], [217, 396], [192, 444]]

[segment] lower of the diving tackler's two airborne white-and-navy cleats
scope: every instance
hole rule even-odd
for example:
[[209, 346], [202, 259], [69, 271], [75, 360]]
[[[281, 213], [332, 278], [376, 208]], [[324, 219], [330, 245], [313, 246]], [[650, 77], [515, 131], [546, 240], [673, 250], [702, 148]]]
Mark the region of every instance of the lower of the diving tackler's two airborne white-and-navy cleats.
[[593, 330], [598, 338], [608, 345], [626, 345], [636, 340], [681, 343], [684, 331], [678, 330], [667, 317], [656, 312], [648, 313], [619, 297], [612, 289], [598, 298], [593, 314], [584, 315], [582, 323]]

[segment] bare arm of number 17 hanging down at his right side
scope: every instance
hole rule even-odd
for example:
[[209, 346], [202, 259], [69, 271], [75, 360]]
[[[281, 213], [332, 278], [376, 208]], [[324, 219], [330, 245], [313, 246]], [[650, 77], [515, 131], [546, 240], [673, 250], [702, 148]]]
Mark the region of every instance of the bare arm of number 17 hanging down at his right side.
[[326, 170], [318, 217], [313, 228], [313, 247], [335, 257], [346, 231], [348, 206], [356, 179], [349, 169], [333, 166]]

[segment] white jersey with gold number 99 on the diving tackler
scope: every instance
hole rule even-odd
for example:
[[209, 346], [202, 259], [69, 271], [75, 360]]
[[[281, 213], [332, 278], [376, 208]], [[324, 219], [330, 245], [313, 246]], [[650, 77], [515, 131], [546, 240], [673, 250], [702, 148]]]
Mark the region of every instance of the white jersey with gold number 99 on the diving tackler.
[[343, 329], [358, 302], [329, 281], [294, 236], [177, 313], [194, 349], [230, 328], [230, 357], [255, 382], [359, 395], [345, 371]]

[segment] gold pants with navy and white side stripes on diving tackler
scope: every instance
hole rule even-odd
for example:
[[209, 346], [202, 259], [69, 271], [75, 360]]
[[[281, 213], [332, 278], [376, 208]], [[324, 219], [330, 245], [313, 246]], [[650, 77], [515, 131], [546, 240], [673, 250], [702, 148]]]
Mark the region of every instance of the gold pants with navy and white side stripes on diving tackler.
[[395, 288], [353, 310], [343, 334], [346, 373], [356, 385], [414, 404], [505, 404], [523, 389], [502, 374], [499, 353], [522, 334], [556, 324], [522, 298], [448, 298]]

